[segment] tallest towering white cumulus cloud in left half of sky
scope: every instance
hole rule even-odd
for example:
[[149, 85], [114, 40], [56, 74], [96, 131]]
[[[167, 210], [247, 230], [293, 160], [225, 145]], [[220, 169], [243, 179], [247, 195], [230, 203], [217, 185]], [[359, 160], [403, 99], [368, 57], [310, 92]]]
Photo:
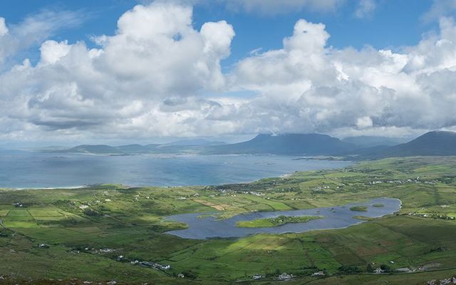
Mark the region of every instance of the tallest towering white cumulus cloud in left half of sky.
[[226, 21], [195, 30], [190, 6], [138, 5], [120, 17], [115, 35], [95, 38], [99, 48], [43, 42], [36, 66], [26, 60], [1, 74], [1, 107], [10, 119], [43, 130], [180, 133], [184, 127], [163, 129], [176, 123], [172, 118], [157, 121], [160, 103], [223, 89], [220, 61], [233, 37]]

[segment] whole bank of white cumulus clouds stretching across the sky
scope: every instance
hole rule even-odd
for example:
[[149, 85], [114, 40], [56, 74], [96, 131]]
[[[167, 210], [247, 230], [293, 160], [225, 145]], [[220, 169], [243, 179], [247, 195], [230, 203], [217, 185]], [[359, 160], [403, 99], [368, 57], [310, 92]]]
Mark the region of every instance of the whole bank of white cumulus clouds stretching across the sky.
[[[125, 12], [113, 35], [93, 38], [95, 48], [44, 41], [38, 63], [24, 60], [0, 74], [0, 138], [455, 128], [450, 18], [398, 51], [333, 48], [324, 24], [301, 19], [281, 48], [257, 50], [222, 73], [234, 34], [226, 21], [196, 29], [191, 6], [153, 2]], [[231, 95], [243, 92], [254, 95]]]

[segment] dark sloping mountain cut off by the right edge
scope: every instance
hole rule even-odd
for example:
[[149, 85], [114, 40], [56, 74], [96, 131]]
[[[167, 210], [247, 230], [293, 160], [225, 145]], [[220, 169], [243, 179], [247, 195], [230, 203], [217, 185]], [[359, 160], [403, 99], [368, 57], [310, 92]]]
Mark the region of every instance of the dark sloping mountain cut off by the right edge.
[[369, 158], [415, 155], [456, 155], [456, 133], [432, 131], [410, 142], [366, 154]]

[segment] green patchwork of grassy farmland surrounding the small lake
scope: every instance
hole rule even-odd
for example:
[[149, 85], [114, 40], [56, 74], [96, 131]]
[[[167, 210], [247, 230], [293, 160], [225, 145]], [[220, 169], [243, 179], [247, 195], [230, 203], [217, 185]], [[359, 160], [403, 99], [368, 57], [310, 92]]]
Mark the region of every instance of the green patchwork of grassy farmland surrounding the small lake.
[[[165, 234], [186, 227], [164, 219], [171, 214], [225, 218], [375, 197], [400, 199], [400, 212], [301, 234]], [[456, 157], [391, 158], [214, 187], [0, 190], [0, 276], [5, 284], [271, 284], [287, 273], [294, 276], [287, 284], [425, 284], [456, 275], [455, 217]], [[388, 272], [374, 274], [380, 266]], [[318, 271], [324, 276], [312, 276]]]

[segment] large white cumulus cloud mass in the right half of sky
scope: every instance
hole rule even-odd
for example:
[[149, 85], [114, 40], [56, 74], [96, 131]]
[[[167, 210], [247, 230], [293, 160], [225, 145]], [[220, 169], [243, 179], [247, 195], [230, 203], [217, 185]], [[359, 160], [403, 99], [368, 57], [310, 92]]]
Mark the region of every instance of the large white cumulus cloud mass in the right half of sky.
[[[322, 24], [300, 20], [284, 48], [238, 63], [232, 82], [261, 94], [248, 103], [254, 118], [262, 116], [270, 129], [299, 133], [348, 128], [403, 128], [408, 133], [456, 124], [452, 19], [440, 21], [439, 34], [400, 52], [338, 50], [326, 46], [327, 39]], [[268, 115], [264, 106], [269, 106]]]

